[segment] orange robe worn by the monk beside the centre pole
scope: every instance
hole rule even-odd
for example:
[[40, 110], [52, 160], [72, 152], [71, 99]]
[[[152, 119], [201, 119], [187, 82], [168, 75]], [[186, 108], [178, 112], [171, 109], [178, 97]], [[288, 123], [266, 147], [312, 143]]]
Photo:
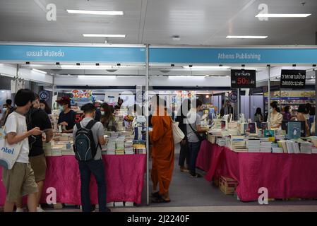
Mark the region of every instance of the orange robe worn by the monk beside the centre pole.
[[174, 169], [174, 139], [172, 133], [172, 119], [167, 116], [152, 116], [152, 171], [151, 177], [154, 188], [159, 184], [159, 194], [167, 194], [172, 181]]

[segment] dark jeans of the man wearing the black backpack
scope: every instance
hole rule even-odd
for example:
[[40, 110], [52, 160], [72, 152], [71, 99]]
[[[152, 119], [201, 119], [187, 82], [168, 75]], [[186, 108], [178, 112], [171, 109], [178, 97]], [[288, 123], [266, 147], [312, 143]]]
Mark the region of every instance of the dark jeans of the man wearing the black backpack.
[[99, 211], [107, 211], [107, 193], [106, 193], [106, 176], [104, 173], [103, 160], [90, 160], [88, 162], [78, 162], [80, 171], [80, 194], [81, 205], [83, 212], [91, 212], [92, 206], [90, 203], [90, 177], [94, 175], [98, 186], [98, 204]]

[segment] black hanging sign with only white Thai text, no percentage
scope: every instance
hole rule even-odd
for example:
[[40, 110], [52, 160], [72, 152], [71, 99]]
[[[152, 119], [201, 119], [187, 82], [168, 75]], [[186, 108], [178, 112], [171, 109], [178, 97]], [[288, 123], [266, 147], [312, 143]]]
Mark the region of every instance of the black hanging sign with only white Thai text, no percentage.
[[280, 88], [304, 89], [305, 82], [305, 70], [281, 70]]

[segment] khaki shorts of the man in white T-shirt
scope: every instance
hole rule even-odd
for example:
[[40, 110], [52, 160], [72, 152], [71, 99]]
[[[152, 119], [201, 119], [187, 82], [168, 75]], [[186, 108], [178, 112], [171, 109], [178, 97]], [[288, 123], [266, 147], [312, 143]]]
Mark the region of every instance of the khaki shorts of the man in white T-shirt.
[[12, 169], [3, 169], [2, 180], [6, 188], [6, 201], [17, 202], [22, 196], [39, 190], [30, 163], [16, 162]]

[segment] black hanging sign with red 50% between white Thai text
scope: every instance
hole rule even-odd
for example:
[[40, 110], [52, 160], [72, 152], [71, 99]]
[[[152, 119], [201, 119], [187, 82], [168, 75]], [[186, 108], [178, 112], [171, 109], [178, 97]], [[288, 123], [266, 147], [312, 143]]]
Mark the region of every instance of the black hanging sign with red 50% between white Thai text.
[[256, 70], [231, 70], [231, 88], [256, 88]]

